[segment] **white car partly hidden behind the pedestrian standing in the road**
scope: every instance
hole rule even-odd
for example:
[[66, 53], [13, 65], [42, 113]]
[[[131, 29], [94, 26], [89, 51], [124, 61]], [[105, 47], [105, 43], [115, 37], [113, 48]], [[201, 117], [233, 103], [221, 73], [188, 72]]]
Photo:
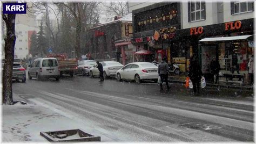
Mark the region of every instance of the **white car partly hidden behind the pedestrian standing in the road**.
[[[123, 68], [124, 65], [117, 61], [103, 61], [100, 62], [103, 66], [103, 77], [107, 78], [109, 76], [116, 76], [117, 70]], [[95, 77], [99, 76], [99, 69], [95, 67], [90, 68], [90, 76]]]

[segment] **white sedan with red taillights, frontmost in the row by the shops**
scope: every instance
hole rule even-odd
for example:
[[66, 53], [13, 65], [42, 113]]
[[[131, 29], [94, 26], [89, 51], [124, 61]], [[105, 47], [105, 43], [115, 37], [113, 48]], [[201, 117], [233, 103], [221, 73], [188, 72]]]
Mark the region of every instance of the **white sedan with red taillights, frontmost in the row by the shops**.
[[133, 62], [126, 64], [122, 69], [117, 70], [117, 81], [135, 80], [140, 83], [142, 80], [158, 80], [158, 67], [150, 62]]

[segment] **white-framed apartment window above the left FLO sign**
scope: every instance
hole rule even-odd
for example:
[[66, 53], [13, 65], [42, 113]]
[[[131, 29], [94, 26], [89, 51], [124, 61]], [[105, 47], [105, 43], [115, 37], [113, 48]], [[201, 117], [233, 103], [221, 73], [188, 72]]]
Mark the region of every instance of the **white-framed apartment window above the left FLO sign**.
[[188, 22], [205, 20], [205, 2], [190, 1], [188, 2]]

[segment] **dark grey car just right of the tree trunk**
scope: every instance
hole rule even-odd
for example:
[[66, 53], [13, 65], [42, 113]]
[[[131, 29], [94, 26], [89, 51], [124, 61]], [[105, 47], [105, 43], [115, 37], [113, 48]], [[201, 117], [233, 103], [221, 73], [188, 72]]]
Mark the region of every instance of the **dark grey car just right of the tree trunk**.
[[26, 69], [22, 67], [21, 63], [14, 62], [12, 68], [12, 79], [15, 79], [17, 82], [19, 82], [19, 80], [23, 83], [26, 82]]

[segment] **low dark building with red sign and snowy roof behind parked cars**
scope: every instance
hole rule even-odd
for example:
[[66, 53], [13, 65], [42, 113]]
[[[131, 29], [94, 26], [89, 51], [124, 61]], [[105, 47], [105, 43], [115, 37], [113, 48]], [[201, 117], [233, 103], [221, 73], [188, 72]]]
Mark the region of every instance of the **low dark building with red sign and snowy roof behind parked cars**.
[[90, 28], [86, 33], [86, 53], [99, 61], [132, 62], [134, 50], [132, 38], [132, 14], [115, 17], [115, 20]]

